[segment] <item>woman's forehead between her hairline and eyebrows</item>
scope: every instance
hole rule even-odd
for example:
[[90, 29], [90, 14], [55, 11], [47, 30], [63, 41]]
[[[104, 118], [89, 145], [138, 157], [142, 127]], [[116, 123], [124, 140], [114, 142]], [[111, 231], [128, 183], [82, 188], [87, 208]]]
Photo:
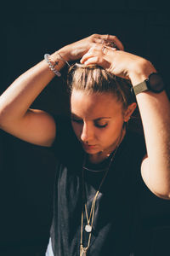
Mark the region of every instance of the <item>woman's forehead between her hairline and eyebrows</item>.
[[99, 118], [122, 113], [122, 103], [110, 92], [92, 93], [73, 90], [71, 94], [71, 113], [82, 118]]

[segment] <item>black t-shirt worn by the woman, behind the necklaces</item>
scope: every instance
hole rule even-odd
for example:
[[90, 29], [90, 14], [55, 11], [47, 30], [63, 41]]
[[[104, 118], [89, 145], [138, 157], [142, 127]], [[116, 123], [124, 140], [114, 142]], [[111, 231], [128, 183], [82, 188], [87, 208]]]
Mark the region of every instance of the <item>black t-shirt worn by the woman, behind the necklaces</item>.
[[[57, 118], [54, 142], [58, 158], [54, 184], [51, 239], [54, 256], [80, 255], [82, 218], [82, 161], [84, 153], [67, 119]], [[127, 131], [105, 177], [94, 212], [93, 233], [87, 255], [126, 256], [132, 250], [134, 212], [142, 187], [144, 138]], [[104, 172], [84, 172], [88, 215]], [[84, 214], [83, 225], [87, 224]], [[83, 246], [88, 233], [83, 231]]]

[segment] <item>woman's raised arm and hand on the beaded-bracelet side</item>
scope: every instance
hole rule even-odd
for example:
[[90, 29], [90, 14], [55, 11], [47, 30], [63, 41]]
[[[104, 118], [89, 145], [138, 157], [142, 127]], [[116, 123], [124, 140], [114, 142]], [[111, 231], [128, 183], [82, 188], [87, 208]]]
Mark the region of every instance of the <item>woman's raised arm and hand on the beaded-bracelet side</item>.
[[[107, 35], [95, 34], [66, 45], [54, 52], [50, 60], [59, 62], [55, 66], [59, 71], [65, 61], [80, 59], [90, 47], [105, 38]], [[0, 128], [26, 142], [50, 146], [56, 134], [54, 119], [42, 110], [30, 109], [30, 106], [54, 76], [47, 61], [43, 60], [16, 79], [0, 96]]]

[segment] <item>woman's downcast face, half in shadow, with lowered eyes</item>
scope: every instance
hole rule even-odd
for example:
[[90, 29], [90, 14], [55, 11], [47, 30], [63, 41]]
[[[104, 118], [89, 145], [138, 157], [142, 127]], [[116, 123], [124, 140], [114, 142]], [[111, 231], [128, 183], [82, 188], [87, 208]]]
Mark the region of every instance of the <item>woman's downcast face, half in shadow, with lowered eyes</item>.
[[122, 111], [122, 103], [109, 92], [88, 95], [80, 90], [72, 91], [72, 127], [88, 154], [111, 153], [128, 118]]

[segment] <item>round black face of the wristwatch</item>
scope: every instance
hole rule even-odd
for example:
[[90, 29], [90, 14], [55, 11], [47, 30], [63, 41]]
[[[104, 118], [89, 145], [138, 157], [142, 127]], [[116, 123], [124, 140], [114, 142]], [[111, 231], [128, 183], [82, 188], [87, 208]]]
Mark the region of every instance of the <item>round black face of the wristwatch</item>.
[[149, 90], [159, 93], [164, 90], [163, 80], [158, 73], [151, 73], [147, 80]]

